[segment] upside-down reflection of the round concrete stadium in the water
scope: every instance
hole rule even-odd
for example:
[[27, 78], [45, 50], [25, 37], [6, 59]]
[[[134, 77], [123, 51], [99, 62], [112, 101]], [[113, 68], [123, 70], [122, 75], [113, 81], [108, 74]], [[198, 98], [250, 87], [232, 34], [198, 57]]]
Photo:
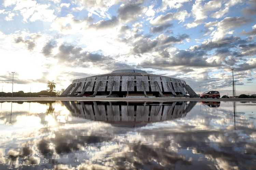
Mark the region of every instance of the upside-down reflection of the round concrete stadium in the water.
[[62, 101], [73, 116], [116, 126], [143, 126], [185, 117], [197, 102], [83, 102]]

